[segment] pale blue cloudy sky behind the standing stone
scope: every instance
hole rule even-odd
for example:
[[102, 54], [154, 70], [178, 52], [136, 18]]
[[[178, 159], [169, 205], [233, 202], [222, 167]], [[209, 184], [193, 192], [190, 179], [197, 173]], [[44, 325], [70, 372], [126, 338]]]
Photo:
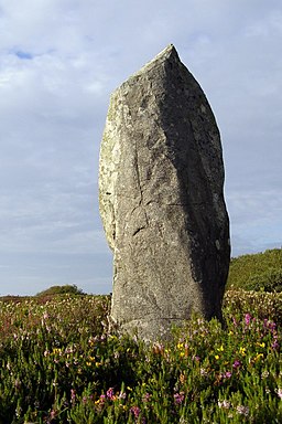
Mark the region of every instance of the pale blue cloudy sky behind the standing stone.
[[281, 247], [281, 0], [0, 0], [0, 296], [112, 290], [109, 97], [170, 43], [220, 129], [231, 255]]

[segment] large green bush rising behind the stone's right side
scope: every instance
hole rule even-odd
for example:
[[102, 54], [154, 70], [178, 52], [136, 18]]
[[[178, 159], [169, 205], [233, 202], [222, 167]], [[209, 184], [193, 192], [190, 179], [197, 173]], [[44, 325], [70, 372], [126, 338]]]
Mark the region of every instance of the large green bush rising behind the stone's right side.
[[282, 292], [282, 250], [242, 255], [230, 262], [228, 287], [257, 292]]

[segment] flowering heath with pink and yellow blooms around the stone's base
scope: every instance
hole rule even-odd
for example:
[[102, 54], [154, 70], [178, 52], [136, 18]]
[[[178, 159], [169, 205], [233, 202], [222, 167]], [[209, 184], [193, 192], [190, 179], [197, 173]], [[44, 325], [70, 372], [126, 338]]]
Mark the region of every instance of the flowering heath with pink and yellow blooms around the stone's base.
[[166, 344], [110, 333], [109, 303], [1, 304], [1, 423], [282, 422], [282, 295], [227, 293], [224, 328], [195, 316]]

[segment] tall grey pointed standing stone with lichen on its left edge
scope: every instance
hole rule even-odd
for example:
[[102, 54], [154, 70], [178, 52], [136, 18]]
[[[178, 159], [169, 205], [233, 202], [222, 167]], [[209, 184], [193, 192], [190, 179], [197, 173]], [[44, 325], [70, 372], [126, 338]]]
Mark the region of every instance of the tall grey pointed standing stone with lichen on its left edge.
[[111, 95], [99, 202], [113, 252], [111, 318], [145, 340], [193, 311], [221, 318], [230, 248], [214, 114], [173, 45]]

